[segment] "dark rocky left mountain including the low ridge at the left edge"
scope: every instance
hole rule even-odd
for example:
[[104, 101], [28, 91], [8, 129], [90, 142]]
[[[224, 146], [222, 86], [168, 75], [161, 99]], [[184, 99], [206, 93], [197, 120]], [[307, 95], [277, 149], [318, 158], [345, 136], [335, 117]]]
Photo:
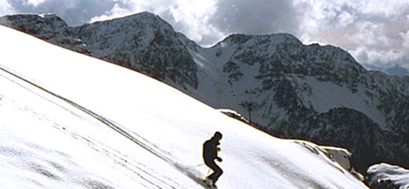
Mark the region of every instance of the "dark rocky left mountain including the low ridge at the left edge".
[[197, 87], [197, 68], [184, 45], [188, 39], [148, 12], [79, 27], [55, 14], [5, 16], [0, 24], [158, 80]]

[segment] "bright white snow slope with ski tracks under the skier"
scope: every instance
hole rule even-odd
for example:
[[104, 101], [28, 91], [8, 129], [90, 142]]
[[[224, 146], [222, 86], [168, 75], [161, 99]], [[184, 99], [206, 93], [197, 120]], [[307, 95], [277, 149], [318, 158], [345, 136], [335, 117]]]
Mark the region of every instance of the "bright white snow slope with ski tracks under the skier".
[[0, 27], [2, 188], [367, 188], [324, 150], [271, 137], [156, 80]]

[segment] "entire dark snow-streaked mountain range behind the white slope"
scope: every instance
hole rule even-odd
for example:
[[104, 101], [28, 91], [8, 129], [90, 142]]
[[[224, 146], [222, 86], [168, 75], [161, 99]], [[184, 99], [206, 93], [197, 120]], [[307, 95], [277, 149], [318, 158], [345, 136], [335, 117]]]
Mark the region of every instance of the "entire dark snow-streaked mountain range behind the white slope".
[[290, 34], [233, 34], [202, 48], [148, 12], [79, 27], [56, 17], [0, 23], [235, 110], [271, 135], [346, 148], [360, 172], [379, 162], [409, 167], [409, 76], [368, 71], [340, 48]]

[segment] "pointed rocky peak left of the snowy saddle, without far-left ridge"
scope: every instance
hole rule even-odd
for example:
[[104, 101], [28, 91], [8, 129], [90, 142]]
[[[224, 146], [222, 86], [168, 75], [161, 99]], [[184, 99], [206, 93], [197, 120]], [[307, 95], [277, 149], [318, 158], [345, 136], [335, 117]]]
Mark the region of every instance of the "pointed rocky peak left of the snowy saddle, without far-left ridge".
[[90, 23], [74, 30], [94, 57], [158, 80], [197, 87], [197, 67], [186, 45], [189, 40], [154, 14], [144, 12]]

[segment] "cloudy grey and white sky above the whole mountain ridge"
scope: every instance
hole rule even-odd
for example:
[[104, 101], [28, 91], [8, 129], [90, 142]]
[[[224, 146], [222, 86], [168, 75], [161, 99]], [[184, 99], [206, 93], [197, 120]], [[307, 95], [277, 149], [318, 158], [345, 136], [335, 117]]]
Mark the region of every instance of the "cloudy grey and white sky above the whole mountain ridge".
[[202, 46], [233, 33], [290, 33], [339, 46], [359, 63], [409, 68], [407, 0], [0, 0], [0, 16], [52, 12], [70, 26], [143, 11]]

